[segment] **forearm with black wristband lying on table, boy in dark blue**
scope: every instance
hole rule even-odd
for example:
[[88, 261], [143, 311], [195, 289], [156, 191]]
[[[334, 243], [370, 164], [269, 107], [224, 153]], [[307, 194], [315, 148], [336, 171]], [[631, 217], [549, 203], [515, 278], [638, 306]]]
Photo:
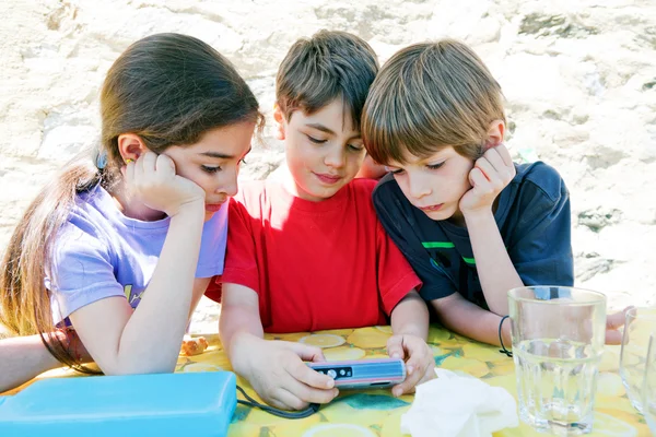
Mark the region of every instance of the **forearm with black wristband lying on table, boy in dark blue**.
[[[501, 316], [472, 304], [458, 293], [432, 300], [431, 305], [445, 328], [482, 343], [501, 345], [499, 341]], [[509, 349], [509, 320], [504, 321], [502, 335], [503, 344]]]

